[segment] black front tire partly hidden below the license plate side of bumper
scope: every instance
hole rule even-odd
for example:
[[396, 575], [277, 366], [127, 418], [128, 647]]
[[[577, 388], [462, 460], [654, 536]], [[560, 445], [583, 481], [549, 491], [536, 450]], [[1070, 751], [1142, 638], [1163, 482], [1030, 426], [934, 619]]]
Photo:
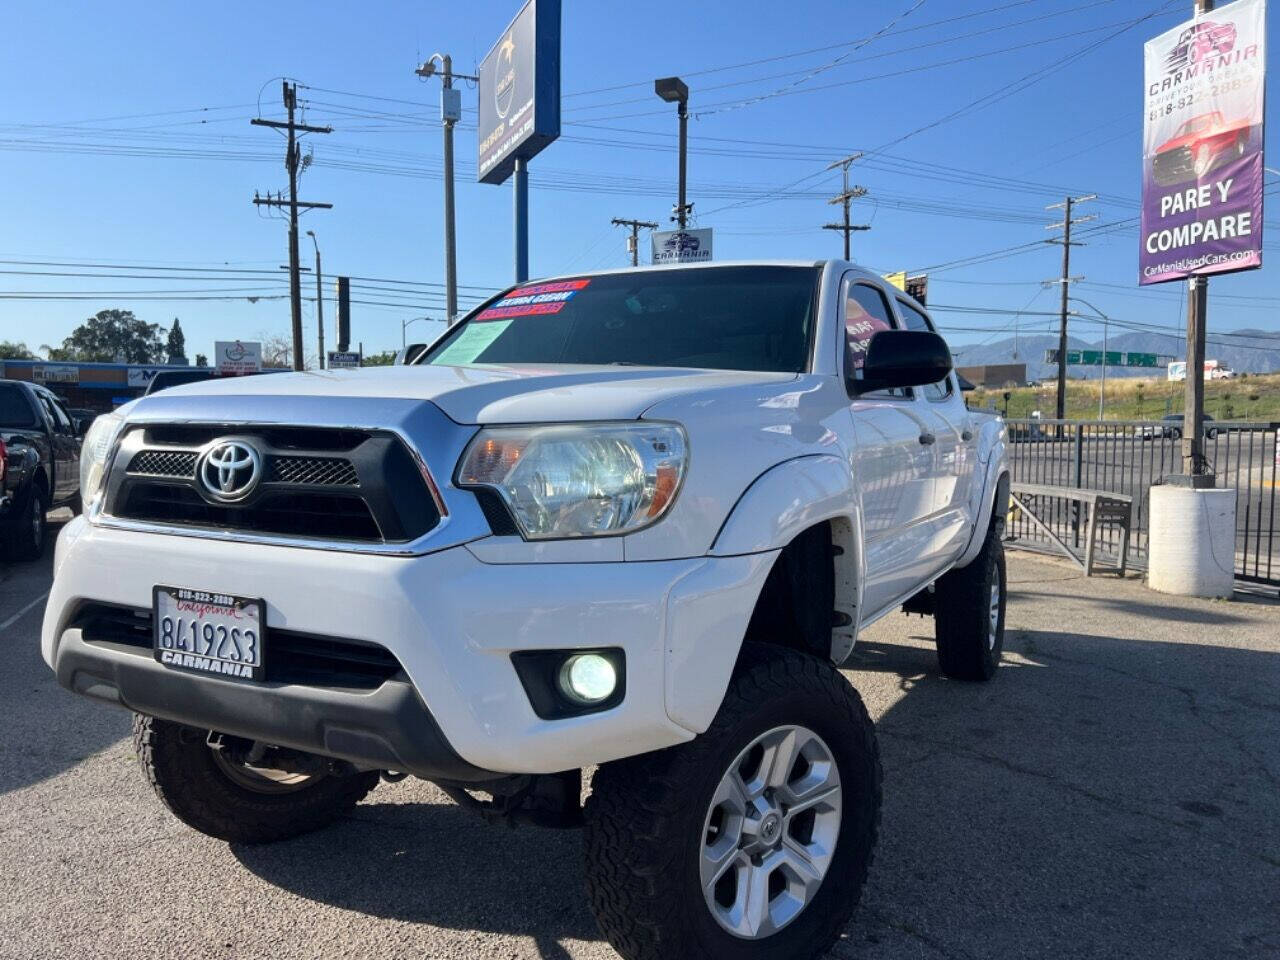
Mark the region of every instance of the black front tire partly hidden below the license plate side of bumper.
[[320, 829], [378, 785], [378, 771], [325, 776], [288, 794], [234, 783], [206, 744], [207, 731], [133, 716], [133, 749], [160, 801], [188, 827], [233, 844], [270, 844]]

